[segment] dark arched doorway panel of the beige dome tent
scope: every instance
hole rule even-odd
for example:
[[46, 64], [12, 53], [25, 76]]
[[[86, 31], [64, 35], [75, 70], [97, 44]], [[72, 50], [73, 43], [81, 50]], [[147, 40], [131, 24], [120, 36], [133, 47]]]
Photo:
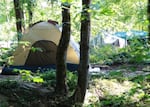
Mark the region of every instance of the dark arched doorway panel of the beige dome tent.
[[[40, 50], [29, 52], [25, 65], [27, 66], [45, 66], [56, 63], [57, 46], [51, 41], [41, 40], [33, 44], [33, 48]], [[36, 61], [35, 61], [36, 59]], [[43, 63], [44, 62], [44, 63]]]

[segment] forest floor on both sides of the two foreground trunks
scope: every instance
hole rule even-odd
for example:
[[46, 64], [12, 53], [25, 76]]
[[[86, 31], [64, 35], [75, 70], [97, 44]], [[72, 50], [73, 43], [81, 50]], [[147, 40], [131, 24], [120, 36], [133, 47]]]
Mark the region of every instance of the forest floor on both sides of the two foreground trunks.
[[[85, 107], [149, 107], [150, 65], [95, 66]], [[22, 81], [20, 75], [0, 75], [0, 107], [60, 107], [54, 87]]]

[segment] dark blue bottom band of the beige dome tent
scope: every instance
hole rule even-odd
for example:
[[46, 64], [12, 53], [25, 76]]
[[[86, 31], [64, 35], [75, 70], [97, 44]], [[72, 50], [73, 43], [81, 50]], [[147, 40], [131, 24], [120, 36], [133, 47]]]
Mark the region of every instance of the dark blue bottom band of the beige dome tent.
[[[56, 65], [55, 64], [51, 64], [51, 65], [47, 65], [47, 66], [13, 66], [13, 65], [9, 65], [9, 66], [5, 66], [2, 69], [2, 73], [3, 75], [13, 75], [13, 74], [18, 74], [17, 72], [15, 72], [16, 70], [30, 70], [32, 72], [46, 72], [50, 69], [56, 69]], [[71, 63], [67, 63], [67, 69], [69, 71], [76, 71], [78, 70], [78, 64], [71, 64]]]

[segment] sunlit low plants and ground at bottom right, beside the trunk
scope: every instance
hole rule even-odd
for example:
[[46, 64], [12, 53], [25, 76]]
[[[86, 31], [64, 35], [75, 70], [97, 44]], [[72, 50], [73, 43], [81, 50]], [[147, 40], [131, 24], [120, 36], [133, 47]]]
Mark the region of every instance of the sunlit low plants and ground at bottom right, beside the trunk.
[[[117, 81], [112, 77], [115, 77]], [[118, 82], [119, 77], [122, 78], [122, 82]], [[96, 95], [99, 99], [85, 107], [97, 107], [97, 105], [98, 107], [148, 107], [150, 75], [125, 78], [120, 72], [115, 71], [102, 78], [94, 78], [94, 86], [90, 86], [90, 91], [98, 90]], [[92, 97], [91, 100], [93, 101]]]

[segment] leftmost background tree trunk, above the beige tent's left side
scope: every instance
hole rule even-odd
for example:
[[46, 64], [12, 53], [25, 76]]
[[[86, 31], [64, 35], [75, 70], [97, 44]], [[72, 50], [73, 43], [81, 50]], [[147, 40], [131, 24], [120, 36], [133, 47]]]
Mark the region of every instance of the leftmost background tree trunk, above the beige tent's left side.
[[24, 20], [23, 9], [21, 8], [20, 0], [14, 0], [14, 9], [16, 14], [16, 28], [18, 40], [20, 40], [20, 37], [22, 36], [23, 20]]

